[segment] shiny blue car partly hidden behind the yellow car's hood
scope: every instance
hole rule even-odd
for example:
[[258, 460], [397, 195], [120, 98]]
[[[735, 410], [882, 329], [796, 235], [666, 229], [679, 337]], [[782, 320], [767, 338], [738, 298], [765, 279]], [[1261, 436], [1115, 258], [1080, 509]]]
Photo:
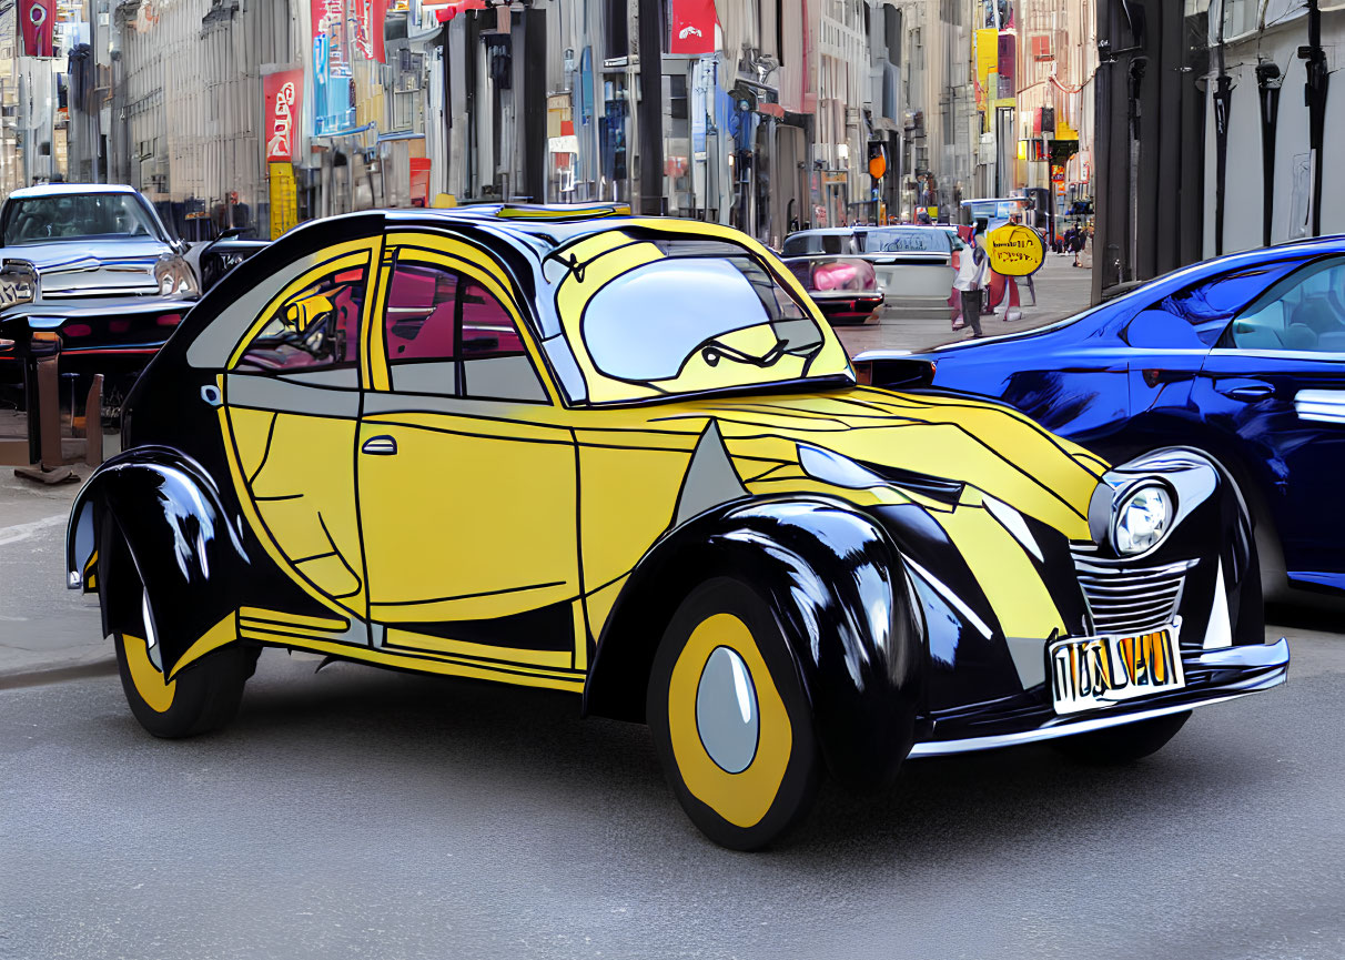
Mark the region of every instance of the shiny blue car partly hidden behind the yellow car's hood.
[[1345, 237], [1221, 257], [1036, 331], [857, 358], [1017, 407], [1122, 463], [1197, 446], [1256, 522], [1267, 598], [1345, 593]]

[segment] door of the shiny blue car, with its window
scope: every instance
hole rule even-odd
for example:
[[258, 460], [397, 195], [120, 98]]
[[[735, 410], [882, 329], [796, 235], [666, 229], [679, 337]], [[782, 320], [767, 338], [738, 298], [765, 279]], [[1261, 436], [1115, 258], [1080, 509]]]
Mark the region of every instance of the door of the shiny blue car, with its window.
[[1290, 581], [1345, 589], [1345, 257], [1301, 266], [1240, 311], [1193, 402], [1262, 473]]

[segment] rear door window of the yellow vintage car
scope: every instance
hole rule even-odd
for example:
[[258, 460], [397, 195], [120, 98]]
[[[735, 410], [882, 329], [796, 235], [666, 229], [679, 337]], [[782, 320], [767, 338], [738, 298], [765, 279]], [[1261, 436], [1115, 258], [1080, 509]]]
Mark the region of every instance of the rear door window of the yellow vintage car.
[[359, 325], [367, 270], [343, 266], [317, 273], [277, 307], [234, 366], [239, 374], [350, 370], [358, 386]]

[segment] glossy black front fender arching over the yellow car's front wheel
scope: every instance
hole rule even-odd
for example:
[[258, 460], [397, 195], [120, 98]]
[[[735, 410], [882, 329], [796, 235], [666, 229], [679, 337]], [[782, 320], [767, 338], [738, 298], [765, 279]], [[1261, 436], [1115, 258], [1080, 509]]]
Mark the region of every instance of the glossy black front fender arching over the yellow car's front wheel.
[[656, 543], [603, 629], [585, 711], [644, 719], [668, 618], [695, 584], [717, 575], [748, 584], [771, 608], [833, 774], [857, 789], [890, 783], [915, 741], [924, 644], [892, 538], [841, 500], [726, 504]]

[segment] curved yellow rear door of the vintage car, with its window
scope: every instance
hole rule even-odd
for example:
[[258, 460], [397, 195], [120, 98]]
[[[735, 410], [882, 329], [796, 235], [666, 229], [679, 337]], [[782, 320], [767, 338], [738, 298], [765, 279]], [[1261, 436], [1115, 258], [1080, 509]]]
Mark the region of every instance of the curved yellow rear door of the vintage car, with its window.
[[234, 347], [221, 397], [238, 499], [266, 550], [315, 598], [360, 621], [356, 354], [378, 247], [343, 243], [299, 266]]

